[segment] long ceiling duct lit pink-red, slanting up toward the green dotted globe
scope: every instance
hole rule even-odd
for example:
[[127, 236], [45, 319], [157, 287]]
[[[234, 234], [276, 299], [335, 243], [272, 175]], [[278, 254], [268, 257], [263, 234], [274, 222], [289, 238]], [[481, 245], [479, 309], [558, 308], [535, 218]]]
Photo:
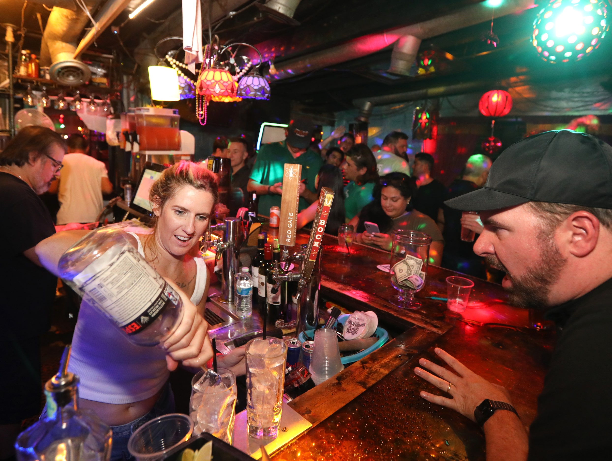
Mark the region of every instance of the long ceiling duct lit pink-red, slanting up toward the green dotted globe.
[[[519, 13], [534, 5], [534, 0], [506, 0], [502, 5], [496, 7], [495, 16]], [[474, 26], [491, 20], [491, 9], [485, 2], [469, 5], [456, 10], [446, 16], [434, 18], [409, 26], [395, 27], [377, 34], [364, 35], [355, 38], [341, 45], [306, 54], [283, 62], [275, 63], [274, 74], [270, 74], [272, 80], [282, 80], [295, 77], [296, 75], [312, 72], [314, 70], [331, 67], [341, 62], [357, 59], [368, 54], [381, 51], [387, 46], [393, 45], [401, 37], [411, 35], [412, 37], [425, 40], [426, 38], [436, 37], [437, 35], [462, 29], [463, 27]], [[266, 52], [266, 43], [255, 45], [259, 51]]]

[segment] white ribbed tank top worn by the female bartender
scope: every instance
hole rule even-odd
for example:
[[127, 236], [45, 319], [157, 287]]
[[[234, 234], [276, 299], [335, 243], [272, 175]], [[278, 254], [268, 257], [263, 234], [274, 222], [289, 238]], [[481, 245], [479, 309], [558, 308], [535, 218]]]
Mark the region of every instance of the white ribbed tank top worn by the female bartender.
[[[138, 253], [144, 256], [138, 235]], [[206, 264], [194, 258], [197, 272], [192, 302], [204, 296]], [[80, 378], [79, 396], [106, 404], [131, 404], [154, 396], [170, 372], [160, 347], [136, 346], [95, 307], [81, 303], [68, 367]]]

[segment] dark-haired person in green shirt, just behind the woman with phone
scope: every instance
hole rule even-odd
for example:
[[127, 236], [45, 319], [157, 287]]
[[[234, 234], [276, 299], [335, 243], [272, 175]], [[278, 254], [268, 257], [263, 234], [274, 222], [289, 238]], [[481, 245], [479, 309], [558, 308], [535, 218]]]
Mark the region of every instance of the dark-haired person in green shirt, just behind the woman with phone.
[[365, 144], [356, 144], [346, 153], [345, 219], [349, 222], [373, 200], [372, 191], [378, 181], [376, 159]]

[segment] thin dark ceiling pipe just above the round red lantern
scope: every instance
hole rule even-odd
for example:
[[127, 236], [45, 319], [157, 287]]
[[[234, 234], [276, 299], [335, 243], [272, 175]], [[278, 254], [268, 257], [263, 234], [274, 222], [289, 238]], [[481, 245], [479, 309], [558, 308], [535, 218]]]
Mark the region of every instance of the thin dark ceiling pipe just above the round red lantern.
[[[446, 85], [442, 87], [426, 88], [423, 90], [414, 90], [404, 93], [395, 93], [393, 95], [372, 96], [371, 98], [360, 98], [353, 100], [353, 105], [359, 107], [360, 115], [368, 108], [370, 114], [374, 106], [383, 106], [384, 104], [405, 103], [407, 101], [427, 100], [432, 98], [440, 98], [441, 96], [461, 95], [463, 93], [475, 92], [482, 89], [487, 89], [495, 85], [491, 80], [480, 80], [475, 82], [458, 83], [455, 85]], [[357, 116], [359, 119], [360, 115]], [[369, 118], [369, 115], [368, 115]]]

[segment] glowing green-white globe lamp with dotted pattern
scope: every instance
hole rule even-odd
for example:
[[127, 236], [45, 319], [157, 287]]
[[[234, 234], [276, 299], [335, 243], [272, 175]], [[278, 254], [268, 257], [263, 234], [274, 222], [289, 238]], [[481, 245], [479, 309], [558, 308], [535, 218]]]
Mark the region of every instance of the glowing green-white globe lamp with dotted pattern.
[[535, 17], [531, 43], [547, 62], [580, 60], [606, 36], [607, 16], [605, 1], [551, 0]]

